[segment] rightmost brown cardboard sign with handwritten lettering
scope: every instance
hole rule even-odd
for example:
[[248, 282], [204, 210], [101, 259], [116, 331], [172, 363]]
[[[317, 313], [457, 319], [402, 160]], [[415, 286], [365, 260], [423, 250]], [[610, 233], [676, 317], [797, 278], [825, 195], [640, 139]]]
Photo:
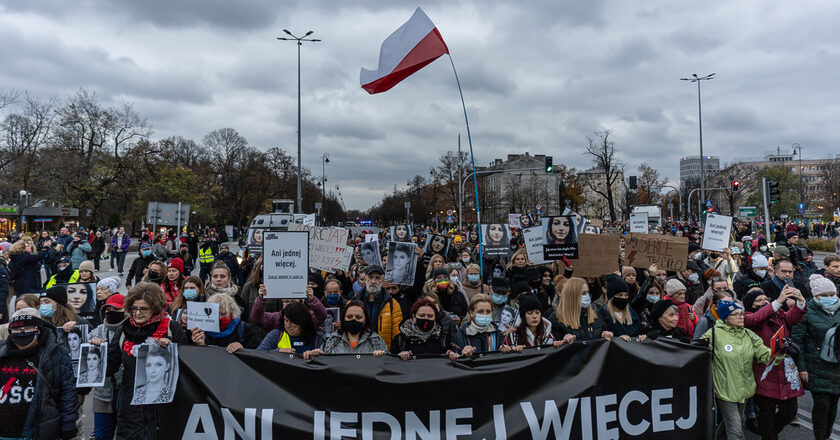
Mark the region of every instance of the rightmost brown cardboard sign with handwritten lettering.
[[624, 264], [631, 267], [647, 269], [655, 263], [659, 269], [684, 271], [688, 262], [688, 237], [627, 234], [624, 252]]

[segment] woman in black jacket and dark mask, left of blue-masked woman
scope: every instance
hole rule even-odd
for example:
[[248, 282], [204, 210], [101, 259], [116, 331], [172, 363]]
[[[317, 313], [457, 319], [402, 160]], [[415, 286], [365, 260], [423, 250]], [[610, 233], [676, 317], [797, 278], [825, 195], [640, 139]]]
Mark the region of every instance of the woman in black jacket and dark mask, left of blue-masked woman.
[[451, 335], [440, 324], [435, 302], [428, 298], [418, 299], [411, 307], [411, 318], [400, 324], [400, 333], [394, 336], [391, 353], [406, 361], [413, 355], [445, 354], [454, 360], [458, 354], [452, 351]]

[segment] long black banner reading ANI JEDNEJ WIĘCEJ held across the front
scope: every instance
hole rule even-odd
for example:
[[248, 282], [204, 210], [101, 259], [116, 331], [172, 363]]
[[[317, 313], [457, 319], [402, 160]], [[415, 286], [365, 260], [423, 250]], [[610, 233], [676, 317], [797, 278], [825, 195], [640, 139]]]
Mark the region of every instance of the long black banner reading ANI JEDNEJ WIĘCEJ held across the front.
[[[710, 438], [710, 354], [578, 342], [474, 360], [183, 346], [160, 439]], [[393, 437], [392, 437], [393, 435]]]

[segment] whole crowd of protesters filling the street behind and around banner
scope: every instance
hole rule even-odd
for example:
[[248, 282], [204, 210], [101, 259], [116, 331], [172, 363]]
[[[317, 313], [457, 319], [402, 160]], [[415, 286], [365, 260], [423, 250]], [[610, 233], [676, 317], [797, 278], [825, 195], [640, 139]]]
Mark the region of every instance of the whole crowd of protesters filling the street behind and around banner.
[[[386, 279], [386, 252], [375, 262], [356, 252], [346, 270], [310, 270], [301, 300], [270, 298], [262, 257], [231, 253], [226, 243], [233, 237], [213, 229], [144, 231], [136, 249], [123, 228], [18, 236], [0, 246], [0, 336], [7, 338], [0, 342], [0, 365], [31, 371], [27, 383], [36, 397], [14, 404], [0, 398], [0, 437], [75, 438], [79, 407], [89, 395], [95, 438], [154, 438], [157, 405], [129, 404], [138, 368], [132, 347], [148, 338], [164, 347], [216, 346], [231, 354], [390, 353], [406, 361], [656, 339], [709, 347], [719, 429], [727, 438], [743, 438], [745, 427], [777, 438], [795, 423], [797, 399], [807, 389], [814, 436], [825, 439], [840, 399], [840, 361], [826, 338], [840, 324], [840, 256], [828, 255], [817, 270], [803, 239], [814, 231], [796, 224], [773, 231], [768, 240], [749, 224], [734, 225], [731, 246], [708, 251], [701, 249], [700, 228], [673, 223], [651, 233], [688, 237], [685, 270], [624, 265], [622, 236], [617, 270], [577, 277], [574, 261], [565, 257], [531, 263], [517, 230], [508, 256], [482, 260], [469, 230], [416, 228], [412, 242], [442, 235], [451, 244], [434, 255], [417, 246], [409, 283]], [[349, 237], [350, 244], [365, 235]], [[391, 239], [387, 231], [375, 237], [380, 249]], [[125, 274], [130, 252], [137, 258]], [[116, 276], [95, 275], [104, 272], [103, 255]], [[97, 283], [92, 313], [68, 299], [74, 283]], [[127, 295], [118, 292], [123, 285]], [[190, 302], [218, 304], [220, 331], [188, 328]], [[338, 310], [337, 322], [328, 319], [328, 309]], [[105, 387], [75, 387], [67, 335], [83, 323], [91, 329], [89, 343], [109, 342]], [[771, 357], [771, 339], [779, 334], [784, 343]]]

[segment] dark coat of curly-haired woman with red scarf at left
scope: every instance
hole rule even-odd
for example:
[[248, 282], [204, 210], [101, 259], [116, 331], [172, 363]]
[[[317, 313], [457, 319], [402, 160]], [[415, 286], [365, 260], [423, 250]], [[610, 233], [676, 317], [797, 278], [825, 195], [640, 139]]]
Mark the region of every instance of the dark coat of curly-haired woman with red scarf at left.
[[[127, 323], [124, 325], [128, 325]], [[123, 350], [124, 339], [123, 329], [120, 327], [114, 335], [114, 340], [108, 344], [108, 376], [113, 376], [123, 367], [123, 377], [120, 384], [119, 403], [117, 404], [117, 436], [122, 439], [146, 439], [157, 438], [157, 431], [160, 426], [157, 423], [157, 413], [174, 411], [173, 403], [161, 403], [155, 405], [131, 405], [134, 398], [134, 373], [137, 369], [137, 358], [129, 356]], [[175, 322], [169, 320], [169, 330], [166, 338], [176, 344], [188, 343], [184, 330]], [[166, 427], [164, 427], [166, 429]]]

